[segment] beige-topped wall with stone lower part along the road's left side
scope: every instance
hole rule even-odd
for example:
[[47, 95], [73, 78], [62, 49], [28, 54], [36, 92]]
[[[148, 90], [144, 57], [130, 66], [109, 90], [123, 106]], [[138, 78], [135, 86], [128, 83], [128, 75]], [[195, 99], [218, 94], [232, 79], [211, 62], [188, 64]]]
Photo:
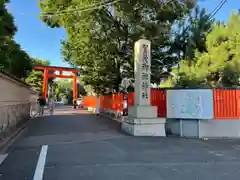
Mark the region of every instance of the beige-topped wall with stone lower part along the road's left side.
[[11, 133], [30, 118], [33, 92], [23, 81], [0, 72], [0, 136]]

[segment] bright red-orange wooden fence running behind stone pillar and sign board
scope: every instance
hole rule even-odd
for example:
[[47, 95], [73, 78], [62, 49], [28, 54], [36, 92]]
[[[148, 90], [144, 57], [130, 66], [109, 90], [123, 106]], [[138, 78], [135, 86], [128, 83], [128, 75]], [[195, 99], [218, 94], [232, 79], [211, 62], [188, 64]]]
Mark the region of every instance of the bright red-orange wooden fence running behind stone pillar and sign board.
[[[166, 117], [166, 90], [151, 89], [151, 104], [158, 107], [158, 117]], [[85, 96], [84, 106], [96, 107], [96, 96]], [[134, 105], [134, 92], [128, 93], [128, 107]], [[240, 119], [240, 90], [213, 90], [213, 107], [215, 120]], [[100, 96], [100, 108], [121, 112], [123, 95]]]

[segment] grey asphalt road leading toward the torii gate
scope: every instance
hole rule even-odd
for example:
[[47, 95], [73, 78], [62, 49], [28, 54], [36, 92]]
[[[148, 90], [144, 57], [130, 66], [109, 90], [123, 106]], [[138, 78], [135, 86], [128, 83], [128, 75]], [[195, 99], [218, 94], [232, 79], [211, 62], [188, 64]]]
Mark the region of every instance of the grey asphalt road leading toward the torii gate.
[[5, 156], [0, 180], [240, 177], [240, 140], [132, 137], [117, 122], [65, 107], [31, 120]]

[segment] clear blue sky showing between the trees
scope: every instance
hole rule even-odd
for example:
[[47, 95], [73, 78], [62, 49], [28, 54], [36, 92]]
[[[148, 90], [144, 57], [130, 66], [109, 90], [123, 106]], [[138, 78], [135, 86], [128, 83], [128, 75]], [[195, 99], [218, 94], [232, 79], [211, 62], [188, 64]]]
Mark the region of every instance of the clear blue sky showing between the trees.
[[[238, 1], [228, 0], [215, 19], [227, 21]], [[199, 5], [211, 12], [219, 2], [220, 0], [199, 0]], [[240, 3], [237, 8], [240, 8]], [[49, 28], [40, 21], [38, 0], [11, 0], [8, 10], [15, 18], [18, 27], [15, 40], [22, 49], [31, 57], [49, 60], [52, 66], [68, 66], [61, 58], [61, 40], [66, 38], [65, 30]]]

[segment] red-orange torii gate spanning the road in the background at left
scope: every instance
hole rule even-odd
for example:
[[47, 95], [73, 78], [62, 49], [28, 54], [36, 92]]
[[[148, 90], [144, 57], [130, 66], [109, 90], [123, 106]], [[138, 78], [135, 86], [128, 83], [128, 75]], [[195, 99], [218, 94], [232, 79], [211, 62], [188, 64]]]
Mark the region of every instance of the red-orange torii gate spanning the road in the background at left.
[[[47, 97], [47, 88], [48, 88], [48, 79], [49, 78], [72, 78], [73, 80], [73, 99], [77, 99], [77, 75], [76, 73], [79, 70], [75, 68], [68, 67], [58, 67], [58, 66], [35, 66], [36, 70], [43, 70], [43, 90], [42, 97], [46, 99]], [[59, 71], [57, 74], [49, 74], [48, 71]], [[63, 72], [72, 72], [73, 75], [63, 75]]]

